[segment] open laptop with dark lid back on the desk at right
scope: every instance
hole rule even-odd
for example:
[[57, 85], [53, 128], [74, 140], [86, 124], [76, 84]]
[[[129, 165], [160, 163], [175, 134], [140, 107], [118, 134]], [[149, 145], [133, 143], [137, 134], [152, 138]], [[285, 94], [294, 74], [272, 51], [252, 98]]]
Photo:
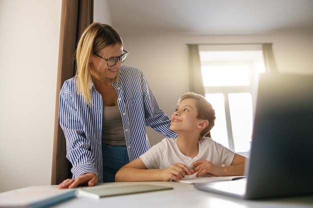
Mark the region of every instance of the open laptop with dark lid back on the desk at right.
[[313, 194], [313, 76], [261, 74], [246, 178], [195, 184], [243, 199]]

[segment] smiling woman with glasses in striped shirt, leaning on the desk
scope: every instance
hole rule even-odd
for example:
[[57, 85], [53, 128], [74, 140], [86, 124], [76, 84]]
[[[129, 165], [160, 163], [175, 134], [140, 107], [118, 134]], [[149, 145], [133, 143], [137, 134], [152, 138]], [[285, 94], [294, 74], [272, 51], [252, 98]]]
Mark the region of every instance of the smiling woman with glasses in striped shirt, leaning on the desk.
[[73, 179], [58, 188], [114, 182], [119, 168], [150, 148], [145, 126], [176, 137], [142, 72], [121, 65], [127, 55], [111, 26], [92, 23], [83, 32], [76, 75], [60, 90], [59, 123]]

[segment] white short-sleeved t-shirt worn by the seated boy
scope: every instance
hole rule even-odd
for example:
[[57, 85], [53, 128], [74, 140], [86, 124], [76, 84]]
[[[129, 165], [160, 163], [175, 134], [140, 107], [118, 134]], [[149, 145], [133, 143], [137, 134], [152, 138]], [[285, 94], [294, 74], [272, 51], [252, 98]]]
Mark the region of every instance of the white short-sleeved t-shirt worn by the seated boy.
[[234, 153], [209, 137], [198, 141], [198, 155], [194, 158], [183, 155], [177, 147], [176, 139], [164, 138], [140, 156], [147, 169], [164, 169], [174, 163], [190, 166], [194, 161], [206, 160], [217, 166], [229, 166]]

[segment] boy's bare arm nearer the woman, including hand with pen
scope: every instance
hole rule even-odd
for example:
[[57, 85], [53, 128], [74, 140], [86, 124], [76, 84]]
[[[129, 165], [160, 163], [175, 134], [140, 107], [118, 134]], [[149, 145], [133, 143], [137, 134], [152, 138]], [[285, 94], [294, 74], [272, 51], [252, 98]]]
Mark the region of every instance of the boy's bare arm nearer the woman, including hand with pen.
[[147, 169], [142, 160], [137, 158], [117, 171], [115, 182], [180, 180], [187, 174], [191, 172], [183, 164], [174, 164], [165, 169]]

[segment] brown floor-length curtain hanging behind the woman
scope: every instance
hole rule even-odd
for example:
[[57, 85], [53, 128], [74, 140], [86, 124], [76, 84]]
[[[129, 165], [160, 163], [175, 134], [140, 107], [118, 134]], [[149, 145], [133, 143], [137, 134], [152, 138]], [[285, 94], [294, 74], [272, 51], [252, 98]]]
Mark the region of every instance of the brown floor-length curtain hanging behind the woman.
[[65, 158], [65, 138], [58, 123], [59, 91], [63, 82], [75, 74], [73, 55], [83, 30], [93, 21], [93, 0], [62, 0], [51, 185], [70, 178], [70, 163]]

